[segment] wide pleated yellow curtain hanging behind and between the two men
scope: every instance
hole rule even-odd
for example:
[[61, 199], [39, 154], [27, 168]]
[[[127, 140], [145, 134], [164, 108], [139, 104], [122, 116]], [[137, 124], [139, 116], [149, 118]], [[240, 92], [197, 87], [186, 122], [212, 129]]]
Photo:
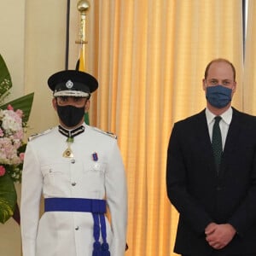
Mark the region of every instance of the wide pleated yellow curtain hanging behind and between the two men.
[[90, 125], [118, 136], [129, 189], [126, 255], [174, 255], [178, 214], [166, 197], [170, 132], [173, 122], [205, 107], [201, 79], [212, 58], [235, 64], [234, 106], [241, 109], [241, 1], [90, 5], [86, 65], [99, 80]]

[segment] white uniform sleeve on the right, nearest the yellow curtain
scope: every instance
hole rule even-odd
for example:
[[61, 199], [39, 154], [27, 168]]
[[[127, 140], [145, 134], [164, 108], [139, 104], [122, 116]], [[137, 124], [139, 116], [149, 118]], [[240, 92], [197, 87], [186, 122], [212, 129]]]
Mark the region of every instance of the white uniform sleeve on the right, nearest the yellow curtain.
[[111, 255], [121, 256], [125, 254], [126, 244], [127, 188], [125, 167], [116, 140], [113, 140], [112, 148], [109, 151], [106, 194], [113, 231]]

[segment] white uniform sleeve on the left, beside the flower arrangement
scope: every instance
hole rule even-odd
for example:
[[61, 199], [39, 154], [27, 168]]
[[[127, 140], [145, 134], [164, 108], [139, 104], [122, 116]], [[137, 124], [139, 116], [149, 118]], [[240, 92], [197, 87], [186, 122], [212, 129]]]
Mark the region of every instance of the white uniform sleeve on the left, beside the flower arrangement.
[[23, 256], [36, 255], [43, 177], [31, 143], [27, 143], [21, 183], [20, 228]]

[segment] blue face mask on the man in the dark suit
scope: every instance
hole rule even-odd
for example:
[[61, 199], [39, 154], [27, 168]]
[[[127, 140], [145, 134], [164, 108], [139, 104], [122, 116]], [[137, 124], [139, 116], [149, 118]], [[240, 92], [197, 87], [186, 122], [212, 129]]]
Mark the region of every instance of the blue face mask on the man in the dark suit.
[[215, 108], [224, 108], [231, 102], [232, 90], [222, 85], [207, 87], [207, 101]]

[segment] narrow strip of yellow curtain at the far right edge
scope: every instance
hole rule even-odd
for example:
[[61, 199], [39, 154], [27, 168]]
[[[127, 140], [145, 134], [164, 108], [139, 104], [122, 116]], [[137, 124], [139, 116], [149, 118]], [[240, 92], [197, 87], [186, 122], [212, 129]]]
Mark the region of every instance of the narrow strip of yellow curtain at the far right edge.
[[256, 2], [248, 0], [247, 13], [247, 40], [245, 44], [245, 64], [244, 64], [244, 109], [247, 113], [256, 115]]

